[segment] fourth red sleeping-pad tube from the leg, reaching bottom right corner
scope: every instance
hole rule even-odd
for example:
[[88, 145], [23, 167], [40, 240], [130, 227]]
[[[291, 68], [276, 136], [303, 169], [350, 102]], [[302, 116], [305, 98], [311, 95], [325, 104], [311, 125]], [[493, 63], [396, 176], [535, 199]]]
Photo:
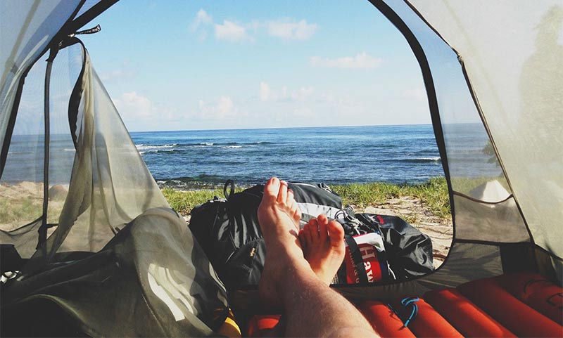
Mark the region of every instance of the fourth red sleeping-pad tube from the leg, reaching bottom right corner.
[[494, 278], [473, 280], [457, 290], [518, 337], [563, 337], [563, 326], [524, 304]]

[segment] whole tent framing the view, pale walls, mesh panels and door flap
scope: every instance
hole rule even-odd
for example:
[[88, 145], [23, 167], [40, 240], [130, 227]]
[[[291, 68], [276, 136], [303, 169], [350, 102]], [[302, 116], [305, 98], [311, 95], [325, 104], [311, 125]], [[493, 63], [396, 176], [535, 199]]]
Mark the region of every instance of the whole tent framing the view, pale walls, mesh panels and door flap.
[[[370, 1], [419, 62], [454, 235], [434, 273], [338, 290], [386, 300], [512, 271], [561, 281], [563, 6]], [[1, 268], [18, 271], [3, 276], [4, 335], [203, 336], [227, 306], [258, 308], [255, 290], [227, 301], [77, 39], [114, 2], [0, 4], [0, 206], [11, 210], [0, 220]], [[493, 172], [467, 156], [474, 119]]]

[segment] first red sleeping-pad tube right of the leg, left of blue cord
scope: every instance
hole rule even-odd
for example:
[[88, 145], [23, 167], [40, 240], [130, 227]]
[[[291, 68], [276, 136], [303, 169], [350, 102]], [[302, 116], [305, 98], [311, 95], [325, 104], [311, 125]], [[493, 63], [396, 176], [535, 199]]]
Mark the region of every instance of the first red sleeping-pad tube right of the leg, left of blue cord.
[[403, 321], [381, 301], [364, 301], [358, 309], [381, 337], [415, 338]]

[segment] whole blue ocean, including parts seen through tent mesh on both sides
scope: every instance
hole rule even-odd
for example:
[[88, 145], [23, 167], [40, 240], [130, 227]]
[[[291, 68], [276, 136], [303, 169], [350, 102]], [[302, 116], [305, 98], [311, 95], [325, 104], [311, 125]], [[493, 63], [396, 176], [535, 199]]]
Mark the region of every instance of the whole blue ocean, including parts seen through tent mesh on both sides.
[[[498, 176], [480, 124], [445, 125], [452, 176]], [[160, 186], [212, 188], [287, 181], [421, 183], [443, 176], [431, 125], [132, 132]], [[33, 148], [36, 145], [37, 148]], [[14, 135], [1, 181], [42, 181], [42, 136]], [[51, 135], [50, 183], [68, 183], [74, 148]], [[56, 165], [56, 167], [53, 167]]]

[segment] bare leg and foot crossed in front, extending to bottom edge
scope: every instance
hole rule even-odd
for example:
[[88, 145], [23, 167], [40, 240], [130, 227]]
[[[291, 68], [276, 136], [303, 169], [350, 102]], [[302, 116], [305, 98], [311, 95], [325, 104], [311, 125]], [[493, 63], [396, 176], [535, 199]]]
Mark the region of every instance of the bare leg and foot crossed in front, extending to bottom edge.
[[298, 239], [298, 213], [287, 184], [270, 178], [258, 207], [266, 243], [258, 291], [265, 305], [279, 305], [287, 337], [377, 337], [355, 306], [315, 275]]

